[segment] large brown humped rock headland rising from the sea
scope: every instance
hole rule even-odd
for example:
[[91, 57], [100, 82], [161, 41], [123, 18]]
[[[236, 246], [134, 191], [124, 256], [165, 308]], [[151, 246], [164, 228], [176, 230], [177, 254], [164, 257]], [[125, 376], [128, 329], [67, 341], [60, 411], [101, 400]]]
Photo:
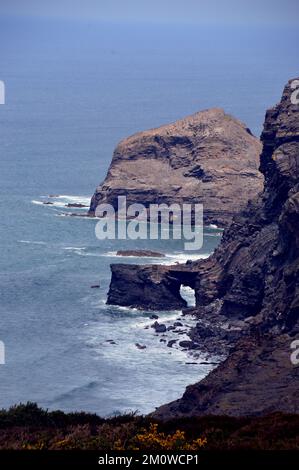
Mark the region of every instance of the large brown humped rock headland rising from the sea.
[[226, 226], [262, 189], [261, 143], [237, 119], [210, 109], [139, 132], [117, 146], [90, 205], [174, 202], [204, 204], [206, 224]]

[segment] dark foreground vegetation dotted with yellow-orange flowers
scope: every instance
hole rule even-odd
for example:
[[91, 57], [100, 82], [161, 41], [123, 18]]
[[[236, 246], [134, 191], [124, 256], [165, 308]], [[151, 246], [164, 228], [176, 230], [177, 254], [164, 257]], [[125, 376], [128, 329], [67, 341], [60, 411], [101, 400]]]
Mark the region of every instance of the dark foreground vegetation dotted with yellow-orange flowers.
[[0, 410], [0, 449], [299, 449], [299, 415], [203, 416], [158, 422], [134, 414], [47, 411], [35, 403]]

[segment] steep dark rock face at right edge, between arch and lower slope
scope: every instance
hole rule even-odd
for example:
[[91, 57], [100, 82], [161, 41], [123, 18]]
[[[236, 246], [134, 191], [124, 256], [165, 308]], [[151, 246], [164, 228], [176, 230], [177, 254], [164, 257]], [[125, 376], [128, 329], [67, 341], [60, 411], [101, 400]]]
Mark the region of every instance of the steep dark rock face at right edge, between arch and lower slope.
[[[286, 86], [261, 136], [263, 193], [237, 216], [196, 283], [199, 305], [228, 317], [292, 328], [298, 319], [299, 108]], [[203, 263], [204, 265], [204, 263]]]

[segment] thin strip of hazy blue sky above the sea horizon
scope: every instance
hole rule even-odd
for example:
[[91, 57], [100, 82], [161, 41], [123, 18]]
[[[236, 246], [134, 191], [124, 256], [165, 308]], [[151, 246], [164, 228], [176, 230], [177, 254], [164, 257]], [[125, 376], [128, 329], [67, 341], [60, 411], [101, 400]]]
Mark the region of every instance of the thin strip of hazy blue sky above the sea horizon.
[[299, 0], [0, 0], [1, 15], [104, 21], [299, 24]]

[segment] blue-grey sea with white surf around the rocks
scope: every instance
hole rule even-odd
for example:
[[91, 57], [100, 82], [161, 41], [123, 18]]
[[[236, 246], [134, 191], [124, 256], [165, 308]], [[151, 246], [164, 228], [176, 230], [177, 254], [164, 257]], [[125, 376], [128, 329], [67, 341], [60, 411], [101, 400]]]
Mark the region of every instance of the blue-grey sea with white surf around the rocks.
[[[180, 241], [99, 241], [96, 222], [66, 217], [75, 209], [65, 204], [88, 203], [117, 142], [138, 130], [220, 106], [259, 134], [296, 76], [298, 33], [13, 18], [0, 26], [0, 406], [149, 412], [212, 365], [168, 348], [160, 340], [173, 333], [155, 335], [149, 312], [106, 306], [109, 265], [157, 262], [116, 258], [133, 247], [165, 252], [163, 263], [205, 257], [219, 231], [205, 230], [199, 253]], [[171, 324], [180, 312], [159, 315]]]

